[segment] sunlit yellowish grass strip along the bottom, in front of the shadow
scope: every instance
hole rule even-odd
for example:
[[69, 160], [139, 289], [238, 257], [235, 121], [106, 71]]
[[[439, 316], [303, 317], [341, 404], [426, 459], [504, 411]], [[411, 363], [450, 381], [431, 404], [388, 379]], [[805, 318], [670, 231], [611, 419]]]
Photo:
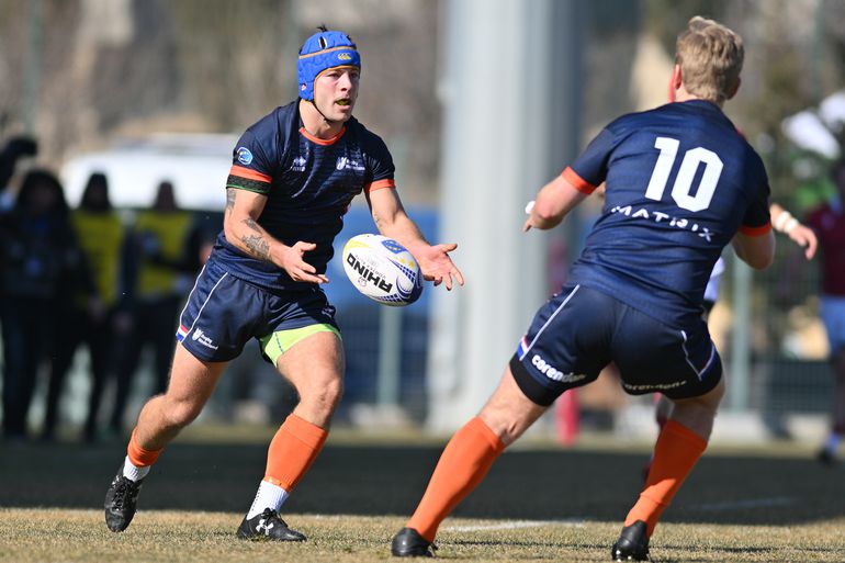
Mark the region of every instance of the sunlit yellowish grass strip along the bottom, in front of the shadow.
[[[105, 529], [100, 510], [1, 509], [0, 561], [35, 562], [371, 562], [387, 561], [401, 517], [285, 515], [305, 543], [237, 540], [241, 515], [145, 510], [124, 533]], [[617, 522], [452, 518], [438, 538], [438, 558], [483, 561], [608, 561]], [[457, 527], [493, 529], [455, 530]], [[800, 526], [667, 523], [653, 539], [655, 561], [842, 562], [845, 519]]]

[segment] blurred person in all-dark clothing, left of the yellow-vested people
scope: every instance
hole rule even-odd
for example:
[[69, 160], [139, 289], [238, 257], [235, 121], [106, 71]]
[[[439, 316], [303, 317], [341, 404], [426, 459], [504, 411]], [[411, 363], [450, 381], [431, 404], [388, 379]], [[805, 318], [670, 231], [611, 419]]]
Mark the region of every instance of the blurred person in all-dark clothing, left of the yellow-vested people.
[[[26, 436], [37, 371], [49, 353], [56, 312], [80, 283], [82, 259], [58, 179], [26, 173], [14, 206], [0, 215], [3, 432]], [[72, 329], [72, 328], [69, 328]]]

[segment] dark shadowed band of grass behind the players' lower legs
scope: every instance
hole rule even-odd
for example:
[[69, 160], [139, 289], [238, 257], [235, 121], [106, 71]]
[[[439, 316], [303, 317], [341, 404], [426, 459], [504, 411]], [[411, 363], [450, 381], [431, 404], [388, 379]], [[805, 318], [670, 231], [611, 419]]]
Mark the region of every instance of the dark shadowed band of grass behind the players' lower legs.
[[[2, 444], [0, 506], [100, 508], [124, 447]], [[328, 446], [289, 513], [407, 516], [439, 447]], [[145, 483], [143, 509], [244, 513], [263, 476], [263, 446], [176, 443]], [[640, 492], [641, 454], [505, 453], [455, 516], [621, 520]], [[845, 480], [812, 460], [705, 457], [664, 521], [788, 525], [845, 516]]]

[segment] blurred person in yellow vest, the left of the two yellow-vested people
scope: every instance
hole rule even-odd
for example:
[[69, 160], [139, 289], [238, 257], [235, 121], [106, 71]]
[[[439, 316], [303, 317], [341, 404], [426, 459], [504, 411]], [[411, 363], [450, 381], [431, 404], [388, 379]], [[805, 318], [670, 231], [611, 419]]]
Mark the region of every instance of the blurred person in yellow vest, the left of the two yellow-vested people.
[[113, 372], [114, 319], [121, 290], [124, 228], [109, 198], [109, 181], [100, 172], [88, 179], [79, 209], [71, 213], [74, 232], [82, 251], [89, 282], [78, 288], [64, 307], [61, 326], [56, 334], [56, 353], [47, 392], [43, 438], [55, 437], [58, 407], [67, 372], [80, 344], [88, 346], [91, 361], [91, 393], [83, 437], [92, 441], [103, 387]]

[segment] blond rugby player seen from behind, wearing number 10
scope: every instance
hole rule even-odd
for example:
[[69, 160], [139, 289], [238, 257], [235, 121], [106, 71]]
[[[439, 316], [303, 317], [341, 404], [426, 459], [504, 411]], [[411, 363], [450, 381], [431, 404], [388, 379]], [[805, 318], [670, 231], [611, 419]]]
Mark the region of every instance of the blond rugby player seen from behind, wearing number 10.
[[734, 32], [691, 19], [677, 41], [676, 101], [616, 120], [540, 190], [526, 230], [557, 225], [607, 182], [602, 215], [498, 389], [447, 444], [393, 539], [394, 555], [430, 555], [440, 522], [499, 453], [564, 391], [594, 381], [612, 361], [626, 392], [660, 392], [674, 403], [645, 486], [611, 548], [615, 561], [647, 559], [657, 519], [703, 453], [724, 393], [701, 319], [708, 277], [729, 243], [757, 269], [775, 250], [763, 162], [721, 110], [740, 86], [743, 54]]

